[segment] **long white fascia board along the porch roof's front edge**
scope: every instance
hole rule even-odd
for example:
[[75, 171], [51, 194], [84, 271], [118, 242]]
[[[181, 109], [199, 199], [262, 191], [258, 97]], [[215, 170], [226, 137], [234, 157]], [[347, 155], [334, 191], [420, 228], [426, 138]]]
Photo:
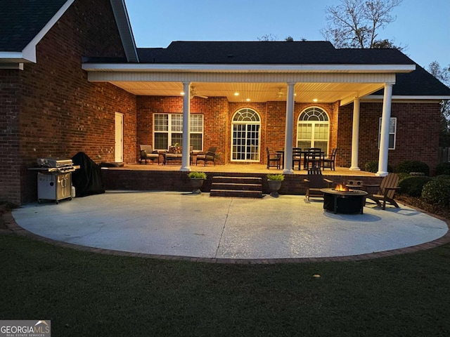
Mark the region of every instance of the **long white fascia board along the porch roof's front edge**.
[[412, 72], [416, 65], [211, 65], [153, 63], [83, 63], [86, 71], [114, 72]]

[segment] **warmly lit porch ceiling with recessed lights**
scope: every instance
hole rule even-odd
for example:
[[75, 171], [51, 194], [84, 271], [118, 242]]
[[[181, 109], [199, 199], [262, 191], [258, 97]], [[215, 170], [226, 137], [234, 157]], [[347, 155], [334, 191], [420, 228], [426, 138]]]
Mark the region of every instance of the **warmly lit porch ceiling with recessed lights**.
[[[110, 81], [134, 95], [181, 96], [183, 84], [168, 81]], [[191, 88], [201, 96], [226, 97], [229, 102], [285, 101], [287, 85], [280, 83], [240, 83], [240, 82], [192, 82]], [[295, 102], [335, 103], [351, 102], [355, 97], [364, 97], [383, 88], [380, 83], [297, 83]], [[235, 95], [238, 93], [239, 95]]]

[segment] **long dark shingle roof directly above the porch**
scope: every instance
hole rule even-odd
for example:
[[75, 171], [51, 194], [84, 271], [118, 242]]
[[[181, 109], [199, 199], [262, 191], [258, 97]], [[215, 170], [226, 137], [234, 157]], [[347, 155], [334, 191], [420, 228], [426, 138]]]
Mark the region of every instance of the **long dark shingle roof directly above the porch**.
[[397, 49], [335, 49], [328, 41], [174, 41], [138, 48], [143, 63], [409, 65]]

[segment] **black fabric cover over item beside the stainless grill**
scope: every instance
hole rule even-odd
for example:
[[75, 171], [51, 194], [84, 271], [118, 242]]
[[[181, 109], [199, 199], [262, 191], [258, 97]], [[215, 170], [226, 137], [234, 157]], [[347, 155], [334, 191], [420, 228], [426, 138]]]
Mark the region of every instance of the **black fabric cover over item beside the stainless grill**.
[[79, 169], [72, 173], [72, 185], [76, 197], [105, 193], [105, 183], [101, 176], [101, 167], [84, 152], [78, 152], [72, 157], [74, 165]]

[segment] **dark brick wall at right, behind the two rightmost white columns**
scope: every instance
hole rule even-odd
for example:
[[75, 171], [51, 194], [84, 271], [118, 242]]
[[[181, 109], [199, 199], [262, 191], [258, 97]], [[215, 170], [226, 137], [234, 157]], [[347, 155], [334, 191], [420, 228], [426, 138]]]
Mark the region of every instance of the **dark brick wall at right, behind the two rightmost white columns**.
[[[359, 167], [378, 160], [378, 122], [383, 103], [361, 103], [359, 124]], [[419, 160], [437, 166], [439, 145], [439, 103], [392, 103], [391, 117], [397, 117], [395, 150], [389, 150], [388, 163], [396, 166], [404, 160]], [[340, 107], [339, 160], [351, 164], [353, 105]]]

